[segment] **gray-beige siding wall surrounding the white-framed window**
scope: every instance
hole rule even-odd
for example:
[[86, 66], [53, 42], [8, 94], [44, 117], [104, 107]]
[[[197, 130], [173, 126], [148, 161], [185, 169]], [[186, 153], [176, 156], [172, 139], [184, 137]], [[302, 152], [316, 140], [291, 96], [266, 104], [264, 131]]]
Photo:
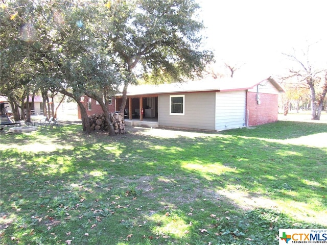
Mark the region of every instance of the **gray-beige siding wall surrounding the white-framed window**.
[[215, 130], [215, 92], [180, 93], [185, 95], [184, 115], [170, 115], [170, 95], [158, 96], [158, 124], [166, 127]]

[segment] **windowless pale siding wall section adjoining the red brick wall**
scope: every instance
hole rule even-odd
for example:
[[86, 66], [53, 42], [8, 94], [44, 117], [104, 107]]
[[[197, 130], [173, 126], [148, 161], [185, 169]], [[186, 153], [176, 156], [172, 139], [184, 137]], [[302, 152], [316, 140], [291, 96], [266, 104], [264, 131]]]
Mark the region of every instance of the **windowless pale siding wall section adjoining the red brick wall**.
[[217, 131], [244, 127], [246, 123], [246, 91], [216, 93]]

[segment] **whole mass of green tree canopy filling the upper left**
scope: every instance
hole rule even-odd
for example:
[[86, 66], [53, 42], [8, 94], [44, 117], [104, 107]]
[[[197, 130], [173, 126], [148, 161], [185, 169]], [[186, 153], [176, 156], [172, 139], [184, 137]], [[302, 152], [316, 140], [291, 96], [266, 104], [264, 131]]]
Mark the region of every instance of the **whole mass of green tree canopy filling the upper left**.
[[[157, 83], [200, 76], [213, 54], [194, 0], [9, 0], [1, 14], [1, 93], [24, 106], [31, 93], [59, 91], [102, 101], [137, 78]], [[102, 103], [100, 103], [102, 104]], [[104, 108], [105, 109], [105, 106]]]

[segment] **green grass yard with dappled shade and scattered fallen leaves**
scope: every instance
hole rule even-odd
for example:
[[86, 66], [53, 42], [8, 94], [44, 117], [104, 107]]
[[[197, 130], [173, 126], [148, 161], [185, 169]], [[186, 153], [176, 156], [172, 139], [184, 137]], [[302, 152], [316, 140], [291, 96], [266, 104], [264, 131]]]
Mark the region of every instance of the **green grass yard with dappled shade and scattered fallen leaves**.
[[278, 244], [327, 227], [327, 124], [2, 134], [1, 244]]

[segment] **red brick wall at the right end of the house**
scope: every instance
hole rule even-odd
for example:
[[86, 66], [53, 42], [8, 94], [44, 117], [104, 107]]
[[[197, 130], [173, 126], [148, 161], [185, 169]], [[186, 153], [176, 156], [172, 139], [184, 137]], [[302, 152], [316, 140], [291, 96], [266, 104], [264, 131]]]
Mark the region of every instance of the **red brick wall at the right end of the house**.
[[278, 120], [278, 94], [260, 93], [260, 105], [255, 92], [247, 92], [246, 118], [248, 126], [267, 124]]

